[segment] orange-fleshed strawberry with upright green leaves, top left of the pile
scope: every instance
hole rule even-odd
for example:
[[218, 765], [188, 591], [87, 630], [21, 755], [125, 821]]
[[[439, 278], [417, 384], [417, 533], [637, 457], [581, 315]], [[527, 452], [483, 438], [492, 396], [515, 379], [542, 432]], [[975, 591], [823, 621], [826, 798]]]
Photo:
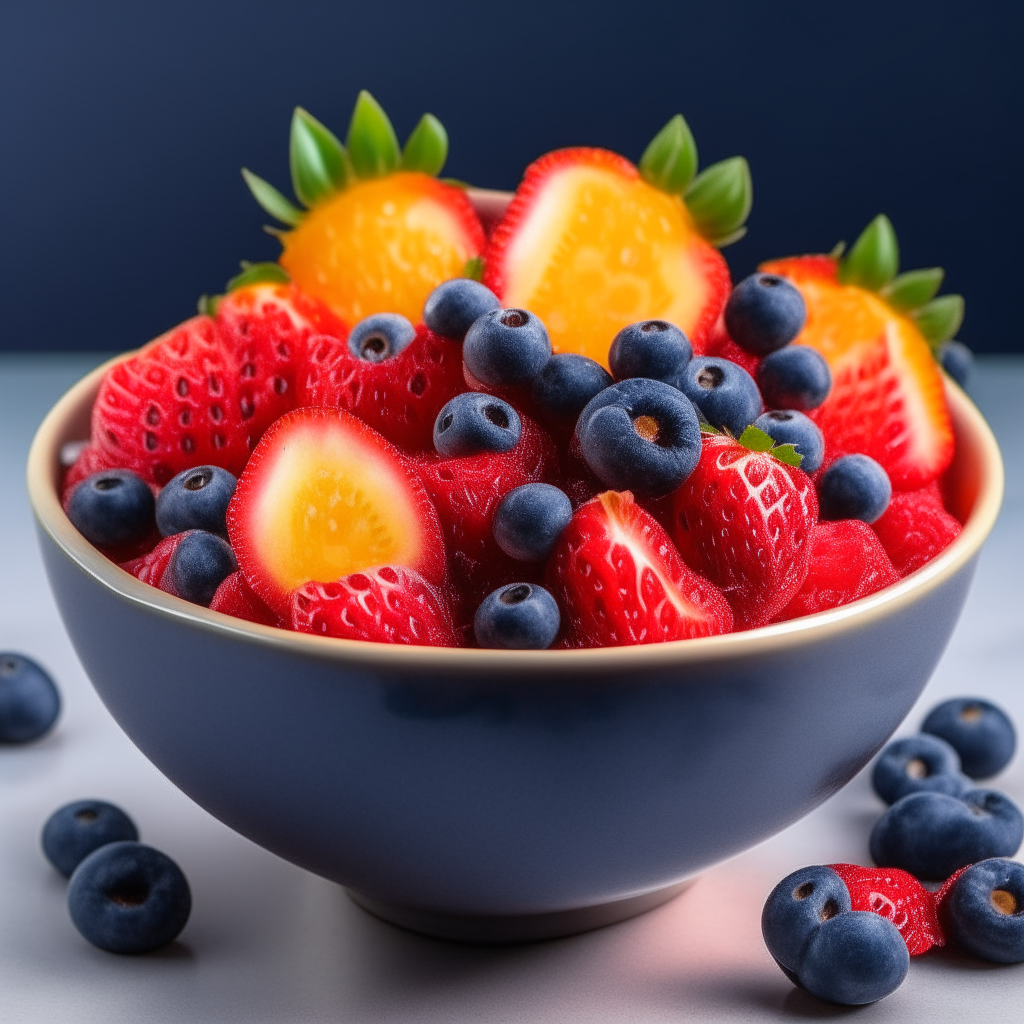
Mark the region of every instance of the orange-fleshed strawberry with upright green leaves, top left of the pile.
[[434, 175], [447, 136], [427, 114], [404, 150], [387, 115], [360, 92], [346, 144], [297, 108], [292, 184], [303, 210], [244, 170], [256, 201], [292, 230], [279, 233], [281, 265], [295, 285], [343, 321], [371, 313], [420, 319], [427, 296], [483, 249], [483, 228], [462, 188]]

